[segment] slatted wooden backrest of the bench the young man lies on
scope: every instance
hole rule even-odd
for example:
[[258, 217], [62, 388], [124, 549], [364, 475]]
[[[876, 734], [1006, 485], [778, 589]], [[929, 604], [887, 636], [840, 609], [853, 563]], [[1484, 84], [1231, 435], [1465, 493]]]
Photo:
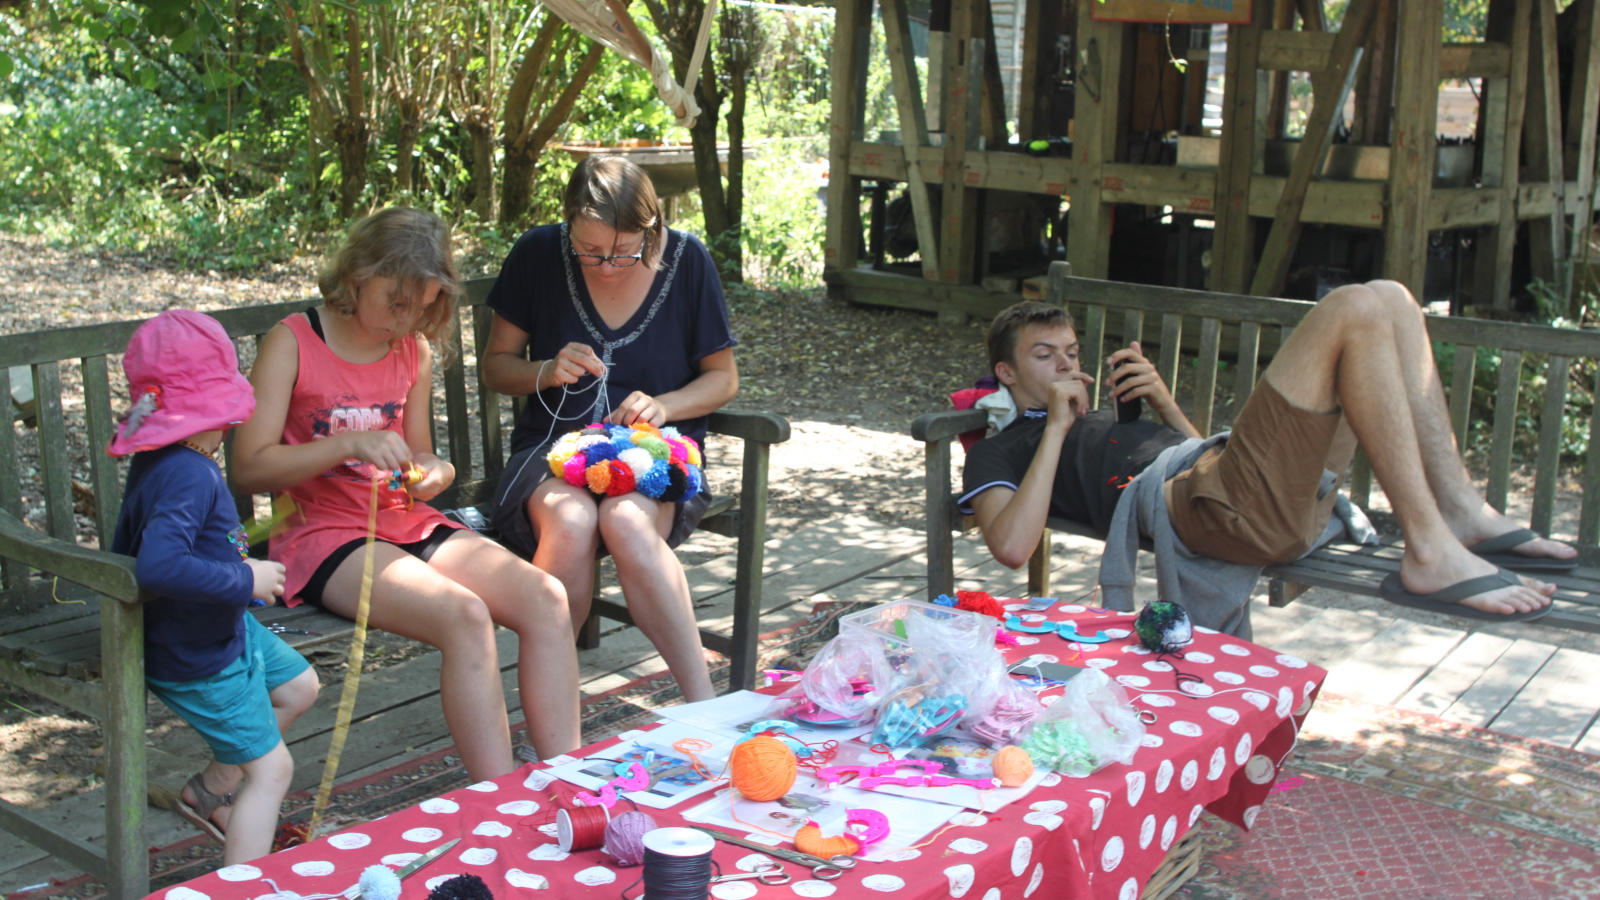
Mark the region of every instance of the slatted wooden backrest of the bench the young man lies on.
[[[1102, 368], [1101, 356], [1109, 336], [1118, 344], [1144, 340], [1147, 319], [1160, 322], [1157, 370], [1168, 384], [1179, 384], [1178, 367], [1184, 354], [1184, 333], [1198, 328], [1194, 388], [1179, 396], [1179, 404], [1192, 410], [1190, 418], [1202, 434], [1213, 431], [1218, 416], [1218, 360], [1234, 351], [1235, 410], [1250, 396], [1264, 365], [1264, 349], [1274, 349], [1288, 338], [1312, 303], [1229, 293], [1211, 293], [1171, 287], [1106, 282], [1067, 274], [1064, 263], [1050, 271], [1048, 298], [1066, 304], [1078, 322], [1078, 343], [1085, 372]], [[1237, 328], [1237, 331], [1235, 331]], [[1549, 533], [1560, 482], [1562, 412], [1566, 407], [1566, 384], [1573, 362], [1600, 357], [1600, 333], [1589, 330], [1550, 328], [1517, 322], [1496, 322], [1459, 315], [1429, 315], [1429, 336], [1435, 343], [1456, 348], [1446, 384], [1450, 421], [1456, 442], [1466, 447], [1472, 413], [1472, 384], [1477, 351], [1483, 348], [1499, 357], [1499, 380], [1491, 412], [1488, 485], [1485, 496], [1496, 509], [1506, 509], [1512, 471], [1512, 437], [1517, 424], [1517, 389], [1523, 378], [1544, 380], [1544, 402], [1538, 410], [1539, 450], [1534, 461], [1534, 487], [1530, 527]], [[1224, 348], [1224, 331], [1235, 331], [1230, 348]], [[1096, 381], [1094, 404], [1099, 404]], [[1600, 378], [1594, 386], [1600, 396]], [[1594, 546], [1600, 538], [1600, 404], [1589, 418], [1589, 452], [1579, 476], [1582, 504], [1578, 516], [1578, 541]], [[1350, 495], [1365, 504], [1371, 474], [1357, 468]]]

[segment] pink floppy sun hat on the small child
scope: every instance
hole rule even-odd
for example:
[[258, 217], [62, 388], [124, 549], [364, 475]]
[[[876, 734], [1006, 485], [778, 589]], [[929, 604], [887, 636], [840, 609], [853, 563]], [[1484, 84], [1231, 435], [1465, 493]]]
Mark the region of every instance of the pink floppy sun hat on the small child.
[[250, 381], [238, 373], [234, 341], [203, 312], [168, 309], [139, 325], [122, 368], [133, 408], [106, 448], [112, 456], [230, 428], [256, 412]]

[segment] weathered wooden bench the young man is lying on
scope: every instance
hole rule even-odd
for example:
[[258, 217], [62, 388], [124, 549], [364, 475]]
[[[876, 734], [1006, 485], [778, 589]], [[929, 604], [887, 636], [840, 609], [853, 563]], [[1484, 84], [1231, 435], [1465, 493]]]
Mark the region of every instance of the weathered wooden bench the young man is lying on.
[[[1184, 288], [1104, 282], [1067, 274], [1066, 263], [1050, 271], [1048, 303], [1072, 311], [1078, 327], [1082, 365], [1085, 372], [1101, 372], [1110, 349], [1139, 338], [1147, 351], [1158, 349], [1157, 368], [1174, 388], [1179, 404], [1202, 434], [1221, 429], [1250, 396], [1270, 351], [1282, 344], [1302, 315], [1314, 306], [1296, 299], [1221, 295]], [[1154, 325], [1158, 325], [1155, 328]], [[1470, 404], [1478, 349], [1499, 359], [1494, 404], [1488, 426], [1488, 482], [1485, 496], [1506, 509], [1514, 469], [1514, 429], [1517, 428], [1517, 388], [1526, 378], [1542, 378], [1544, 400], [1538, 410], [1538, 458], [1533, 466], [1533, 501], [1528, 525], [1550, 533], [1560, 504], [1578, 506], [1576, 544], [1581, 565], [1570, 575], [1539, 575], [1558, 586], [1555, 610], [1542, 623], [1600, 631], [1600, 412], [1589, 418], [1589, 452], [1582, 469], [1563, 479], [1558, 468], [1562, 410], [1566, 405], [1568, 375], [1574, 360], [1600, 357], [1600, 333], [1485, 319], [1429, 315], [1429, 335], [1437, 346], [1454, 348], [1448, 381], [1450, 421], [1456, 442], [1466, 447], [1466, 434], [1474, 424]], [[1197, 340], [1190, 340], [1198, 335]], [[1230, 351], [1230, 359], [1229, 354]], [[1232, 400], [1218, 391], [1219, 362], [1230, 362]], [[1179, 380], [1181, 365], [1194, 367], [1194, 378]], [[1192, 381], [1192, 384], [1189, 384]], [[1184, 389], [1187, 384], [1187, 389]], [[1600, 392], [1600, 384], [1594, 389]], [[1099, 404], [1099, 383], [1093, 386]], [[925, 488], [928, 517], [928, 596], [947, 594], [955, 583], [952, 535], [976, 527], [962, 516], [950, 492], [950, 444], [973, 429], [984, 428], [981, 410], [949, 410], [928, 413], [912, 423], [912, 437], [925, 447]], [[1347, 485], [1350, 500], [1366, 506], [1371, 493], [1371, 469], [1357, 455]], [[1074, 522], [1051, 519], [1050, 528], [1098, 535]], [[1571, 535], [1558, 535], [1571, 538]], [[1272, 605], [1285, 605], [1309, 586], [1334, 588], [1378, 596], [1384, 575], [1398, 570], [1402, 548], [1390, 536], [1381, 546], [1333, 543], [1306, 559], [1269, 567], [1267, 596]], [[1029, 560], [1029, 591], [1050, 593], [1050, 532]]]

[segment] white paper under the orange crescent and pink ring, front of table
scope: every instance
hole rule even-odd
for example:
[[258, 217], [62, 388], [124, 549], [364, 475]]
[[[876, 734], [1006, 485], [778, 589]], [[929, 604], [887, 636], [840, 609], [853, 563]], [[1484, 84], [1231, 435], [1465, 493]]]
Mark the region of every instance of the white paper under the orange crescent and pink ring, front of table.
[[726, 828], [750, 841], [789, 850], [794, 849], [794, 833], [808, 820], [816, 822], [822, 834], [843, 833], [846, 810], [851, 809], [874, 809], [890, 820], [888, 838], [872, 844], [859, 857], [875, 863], [922, 841], [950, 817], [965, 815], [962, 807], [942, 802], [843, 786], [830, 790], [811, 775], [800, 773], [795, 786], [776, 801], [757, 802], [739, 796], [733, 788], [725, 788], [699, 806], [683, 810], [683, 818]]

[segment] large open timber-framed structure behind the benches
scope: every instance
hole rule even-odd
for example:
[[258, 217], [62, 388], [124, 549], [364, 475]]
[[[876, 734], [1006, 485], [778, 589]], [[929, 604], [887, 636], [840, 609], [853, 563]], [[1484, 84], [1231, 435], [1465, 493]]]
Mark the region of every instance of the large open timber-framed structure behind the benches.
[[[1594, 215], [1600, 0], [1560, 14], [1557, 0], [1490, 0], [1486, 40], [1456, 45], [1442, 40], [1443, 0], [1349, 0], [1336, 30], [1322, 0], [1016, 2], [1013, 136], [1002, 0], [835, 0], [835, 295], [987, 317], [1062, 255], [1080, 275], [1235, 293], [1293, 295], [1293, 272], [1328, 267], [1458, 309], [1509, 309], [1534, 279], [1571, 295]], [[1184, 22], [1202, 8], [1243, 21]], [[1165, 16], [1112, 21], [1126, 10]], [[888, 56], [898, 131], [867, 131], [870, 54]], [[1222, 75], [1219, 128], [1202, 112], [1208, 70]], [[1290, 72], [1312, 88], [1298, 139]], [[1461, 146], [1437, 138], [1451, 80], [1478, 101]], [[888, 221], [907, 207], [909, 221]], [[995, 247], [1018, 218], [1032, 259]], [[902, 261], [896, 237], [915, 248]], [[1429, 287], [1430, 239], [1445, 290]]]

